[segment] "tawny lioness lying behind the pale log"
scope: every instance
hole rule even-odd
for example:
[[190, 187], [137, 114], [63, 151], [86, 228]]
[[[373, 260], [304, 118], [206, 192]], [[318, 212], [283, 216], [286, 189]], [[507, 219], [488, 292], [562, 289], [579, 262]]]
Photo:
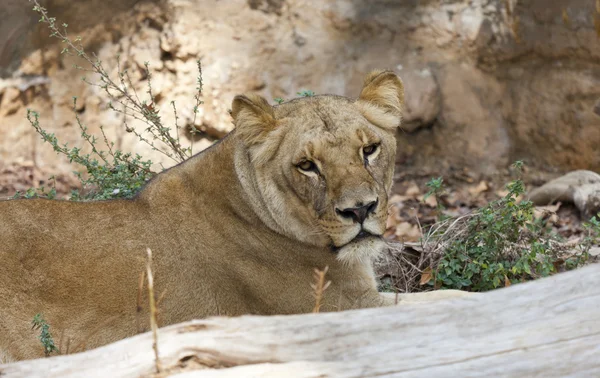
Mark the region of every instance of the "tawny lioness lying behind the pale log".
[[314, 269], [326, 266], [322, 311], [392, 304], [371, 259], [403, 101], [389, 71], [368, 75], [356, 100], [237, 96], [233, 132], [131, 200], [0, 202], [0, 356], [43, 356], [37, 313], [71, 350], [134, 335], [140, 319], [147, 329], [136, 310], [146, 248], [160, 325], [310, 312]]

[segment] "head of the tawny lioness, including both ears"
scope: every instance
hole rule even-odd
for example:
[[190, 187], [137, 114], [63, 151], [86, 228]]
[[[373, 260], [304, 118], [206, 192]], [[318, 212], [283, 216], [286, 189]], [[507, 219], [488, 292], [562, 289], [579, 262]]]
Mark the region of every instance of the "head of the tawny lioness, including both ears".
[[345, 262], [377, 253], [403, 103], [402, 82], [389, 71], [368, 75], [358, 99], [323, 95], [271, 106], [237, 96], [232, 115], [245, 147], [237, 161], [250, 162], [239, 176], [263, 221], [331, 247]]

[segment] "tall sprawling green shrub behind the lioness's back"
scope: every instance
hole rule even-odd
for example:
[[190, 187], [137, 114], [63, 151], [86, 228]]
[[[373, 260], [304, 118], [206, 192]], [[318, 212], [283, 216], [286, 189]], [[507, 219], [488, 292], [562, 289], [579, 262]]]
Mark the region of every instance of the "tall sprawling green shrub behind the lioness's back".
[[[94, 83], [86, 77], [82, 80], [91, 86], [101, 88], [111, 100], [109, 107], [115, 112], [121, 114], [124, 119], [124, 128], [127, 132], [134, 134], [140, 142], [149, 145], [152, 150], [157, 151], [175, 163], [181, 162], [192, 156], [193, 138], [191, 145], [184, 148], [180, 143], [180, 126], [178, 125], [177, 108], [174, 102], [171, 102], [175, 115], [175, 125], [173, 128], [163, 125], [161, 115], [158, 110], [156, 97], [152, 89], [152, 73], [150, 72], [148, 62], [144, 63], [144, 76], [147, 81], [147, 99], [142, 99], [134, 89], [132, 80], [126, 68], [121, 66], [117, 56], [117, 74], [111, 77], [110, 70], [104, 68], [102, 62], [97, 57], [89, 56], [83, 49], [81, 38], [71, 39], [67, 34], [67, 24], [59, 25], [54, 17], [50, 17], [47, 10], [42, 7], [37, 0], [33, 0], [33, 10], [39, 13], [40, 22], [47, 24], [50, 29], [50, 36], [61, 40], [64, 45], [62, 54], [77, 56], [83, 59], [91, 68], [75, 66], [76, 68], [92, 72], [99, 75], [99, 82]], [[194, 94], [195, 105], [193, 108], [195, 124], [198, 108], [202, 104], [202, 66], [197, 62], [198, 78], [197, 87]], [[74, 190], [71, 193], [72, 200], [105, 200], [112, 198], [129, 198], [134, 196], [142, 186], [152, 178], [156, 172], [151, 167], [152, 161], [144, 159], [138, 154], [126, 153], [115, 148], [115, 143], [110, 141], [100, 126], [100, 136], [92, 135], [88, 128], [83, 124], [76, 109], [77, 98], [73, 98], [73, 113], [79, 127], [81, 140], [87, 145], [86, 151], [82, 146], [70, 147], [61, 143], [53, 134], [47, 132], [40, 125], [40, 116], [34, 110], [28, 109], [27, 119], [32, 127], [42, 137], [42, 140], [49, 143], [54, 151], [62, 154], [69, 159], [69, 162], [80, 165], [84, 168], [83, 172], [74, 172], [79, 179], [82, 189]], [[143, 130], [131, 127], [128, 120], [136, 120], [144, 125]], [[173, 134], [173, 130], [175, 133]], [[195, 128], [191, 128], [190, 133], [194, 134]], [[15, 198], [55, 198], [56, 189], [53, 187], [49, 191], [44, 188], [29, 189], [25, 193], [18, 192]]]

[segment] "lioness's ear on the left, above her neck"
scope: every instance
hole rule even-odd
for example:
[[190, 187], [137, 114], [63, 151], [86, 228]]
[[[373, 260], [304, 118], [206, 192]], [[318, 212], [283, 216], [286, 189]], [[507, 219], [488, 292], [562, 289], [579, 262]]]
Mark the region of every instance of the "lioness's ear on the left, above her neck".
[[273, 107], [256, 94], [235, 96], [231, 115], [236, 133], [248, 146], [264, 141], [276, 125]]

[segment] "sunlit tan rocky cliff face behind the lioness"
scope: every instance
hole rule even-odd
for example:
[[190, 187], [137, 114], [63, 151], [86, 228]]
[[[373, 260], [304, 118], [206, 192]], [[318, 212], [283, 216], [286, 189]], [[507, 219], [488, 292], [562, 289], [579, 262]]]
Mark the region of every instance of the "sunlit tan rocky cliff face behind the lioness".
[[[398, 134], [402, 166], [489, 172], [524, 158], [541, 167], [600, 169], [600, 118], [593, 113], [600, 97], [600, 4], [589, 0], [46, 5], [115, 75], [119, 55], [141, 94], [148, 62], [163, 121], [174, 125], [175, 101], [179, 125], [201, 131], [196, 151], [231, 130], [227, 111], [235, 94], [289, 99], [310, 89], [355, 96], [366, 72], [391, 68], [407, 91], [406, 124]], [[119, 147], [172, 164], [126, 132], [107, 96], [81, 82], [76, 60], [51, 44], [30, 8], [17, 0], [0, 4], [4, 192], [50, 174], [70, 177], [73, 168], [41, 142], [25, 114], [39, 111], [49, 132], [79, 143], [73, 96], [91, 131], [103, 125]], [[192, 125], [196, 59], [203, 64], [205, 103]]]

